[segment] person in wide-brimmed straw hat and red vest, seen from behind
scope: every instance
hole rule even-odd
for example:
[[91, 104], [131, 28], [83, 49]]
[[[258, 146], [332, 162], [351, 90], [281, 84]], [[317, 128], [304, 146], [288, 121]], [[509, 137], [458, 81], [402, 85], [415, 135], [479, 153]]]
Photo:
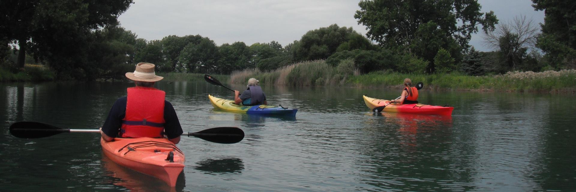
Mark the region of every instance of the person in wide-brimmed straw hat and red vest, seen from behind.
[[128, 95], [113, 104], [108, 118], [100, 128], [105, 141], [115, 137], [138, 138], [168, 137], [174, 144], [184, 133], [172, 104], [165, 100], [166, 93], [154, 88], [154, 82], [164, 77], [156, 76], [154, 64], [138, 63], [134, 72], [126, 77], [136, 86], [128, 88]]

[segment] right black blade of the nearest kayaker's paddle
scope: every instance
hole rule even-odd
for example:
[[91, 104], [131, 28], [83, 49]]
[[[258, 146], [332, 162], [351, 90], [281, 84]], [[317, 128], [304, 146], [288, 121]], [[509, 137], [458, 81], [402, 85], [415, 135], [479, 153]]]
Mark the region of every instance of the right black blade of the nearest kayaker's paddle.
[[219, 144], [235, 144], [244, 139], [244, 131], [237, 127], [214, 127], [196, 133], [188, 132], [190, 136]]

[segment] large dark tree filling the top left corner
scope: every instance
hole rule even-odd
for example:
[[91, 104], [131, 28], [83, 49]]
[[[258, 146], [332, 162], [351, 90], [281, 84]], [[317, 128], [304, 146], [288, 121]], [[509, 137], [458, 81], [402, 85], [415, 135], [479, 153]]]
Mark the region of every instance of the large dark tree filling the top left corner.
[[[116, 25], [132, 0], [122, 1], [0, 1], [0, 41], [18, 43], [17, 66], [24, 66], [25, 55], [32, 51], [59, 73], [79, 69], [88, 74], [93, 67], [85, 62], [85, 42], [92, 30]], [[62, 46], [66, 45], [66, 46]]]

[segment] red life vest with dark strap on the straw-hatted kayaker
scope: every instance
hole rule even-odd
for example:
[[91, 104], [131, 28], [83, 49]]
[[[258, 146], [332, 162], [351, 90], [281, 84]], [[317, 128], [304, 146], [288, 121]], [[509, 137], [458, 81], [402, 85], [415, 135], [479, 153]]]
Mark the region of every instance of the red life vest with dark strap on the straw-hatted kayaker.
[[120, 137], [162, 137], [166, 93], [142, 86], [127, 91], [126, 116], [122, 119]]

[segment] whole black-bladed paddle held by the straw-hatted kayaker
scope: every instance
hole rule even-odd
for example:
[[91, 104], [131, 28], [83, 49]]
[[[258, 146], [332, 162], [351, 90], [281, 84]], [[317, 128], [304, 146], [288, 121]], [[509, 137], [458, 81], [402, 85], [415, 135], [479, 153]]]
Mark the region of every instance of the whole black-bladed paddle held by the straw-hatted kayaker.
[[[66, 129], [46, 123], [21, 121], [10, 125], [10, 134], [18, 138], [43, 138], [60, 133], [100, 133], [98, 129]], [[195, 133], [183, 133], [219, 144], [234, 144], [242, 141], [244, 131], [237, 127], [214, 127]]]

